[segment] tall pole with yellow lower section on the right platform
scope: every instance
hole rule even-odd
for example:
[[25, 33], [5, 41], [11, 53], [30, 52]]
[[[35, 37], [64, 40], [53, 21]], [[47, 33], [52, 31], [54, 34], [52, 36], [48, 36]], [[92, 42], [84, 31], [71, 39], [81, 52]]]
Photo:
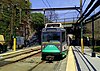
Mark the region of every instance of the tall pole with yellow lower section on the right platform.
[[[82, 16], [82, 0], [80, 0], [80, 16]], [[81, 22], [81, 50], [82, 50], [82, 53], [84, 53], [83, 22]]]

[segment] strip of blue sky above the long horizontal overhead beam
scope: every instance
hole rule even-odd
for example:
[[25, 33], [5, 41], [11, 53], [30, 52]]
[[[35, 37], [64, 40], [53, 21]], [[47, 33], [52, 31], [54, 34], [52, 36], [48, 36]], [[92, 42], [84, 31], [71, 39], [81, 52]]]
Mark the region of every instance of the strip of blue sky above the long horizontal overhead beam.
[[79, 6], [79, 1], [80, 0], [30, 0], [32, 8]]

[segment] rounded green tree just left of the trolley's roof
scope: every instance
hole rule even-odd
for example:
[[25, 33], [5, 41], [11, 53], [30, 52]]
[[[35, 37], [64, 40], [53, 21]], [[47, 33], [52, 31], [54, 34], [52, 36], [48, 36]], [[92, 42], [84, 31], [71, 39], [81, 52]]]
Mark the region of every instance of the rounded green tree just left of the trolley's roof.
[[36, 35], [39, 39], [39, 44], [41, 43], [41, 31], [42, 28], [44, 28], [44, 15], [42, 13], [32, 13], [32, 24], [31, 28], [33, 28], [33, 31], [36, 31]]

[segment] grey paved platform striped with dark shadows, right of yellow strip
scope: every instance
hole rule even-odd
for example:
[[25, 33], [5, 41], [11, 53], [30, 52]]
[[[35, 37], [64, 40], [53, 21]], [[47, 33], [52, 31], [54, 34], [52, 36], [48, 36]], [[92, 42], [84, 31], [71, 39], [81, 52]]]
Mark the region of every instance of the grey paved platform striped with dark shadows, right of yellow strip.
[[73, 47], [73, 52], [76, 60], [77, 71], [100, 71], [99, 55], [91, 57], [92, 50], [89, 47], [84, 47], [84, 54], [81, 53], [81, 47]]

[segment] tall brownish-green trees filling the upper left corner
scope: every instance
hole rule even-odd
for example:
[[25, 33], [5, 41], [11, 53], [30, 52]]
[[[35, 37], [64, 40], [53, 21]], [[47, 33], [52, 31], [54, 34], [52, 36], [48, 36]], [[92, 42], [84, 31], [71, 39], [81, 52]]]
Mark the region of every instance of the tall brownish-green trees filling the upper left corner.
[[[0, 0], [0, 4], [0, 34], [3, 34], [8, 41], [11, 35], [11, 20], [14, 26], [19, 27], [19, 9], [29, 9], [31, 3], [29, 0], [27, 3], [25, 0]], [[29, 16], [25, 11], [22, 11], [21, 15], [22, 20]]]

